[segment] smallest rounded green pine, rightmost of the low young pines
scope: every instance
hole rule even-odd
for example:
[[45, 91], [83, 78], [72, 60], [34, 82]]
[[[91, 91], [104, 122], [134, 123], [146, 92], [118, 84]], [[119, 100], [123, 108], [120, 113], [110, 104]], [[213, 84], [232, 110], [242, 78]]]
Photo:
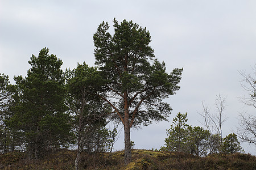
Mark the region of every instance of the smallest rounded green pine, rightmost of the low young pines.
[[230, 133], [228, 136], [223, 138], [221, 151], [225, 154], [233, 154], [242, 150], [240, 142], [238, 142], [237, 135]]

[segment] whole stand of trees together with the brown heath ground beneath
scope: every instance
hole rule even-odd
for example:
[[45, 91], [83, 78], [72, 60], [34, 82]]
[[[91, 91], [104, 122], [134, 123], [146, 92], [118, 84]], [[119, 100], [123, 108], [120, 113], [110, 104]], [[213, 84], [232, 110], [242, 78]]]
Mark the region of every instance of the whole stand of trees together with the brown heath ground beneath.
[[[217, 115], [209, 114], [203, 103], [205, 128], [188, 125], [188, 113], [172, 113], [177, 115], [166, 130], [164, 146], [133, 150], [131, 129], [170, 116], [172, 108], [164, 99], [180, 89], [183, 69], [166, 72], [149, 45], [146, 28], [132, 21], [113, 22], [113, 36], [105, 22], [93, 35], [96, 66], [84, 62], [63, 71], [61, 59], [43, 48], [28, 61], [26, 76], [14, 76], [15, 84], [0, 74], [0, 168], [16, 163], [13, 169], [18, 164], [23, 169], [40, 169], [36, 164], [42, 169], [187, 169], [184, 162], [189, 160], [193, 168], [201, 164], [203, 169], [254, 169], [255, 156], [243, 154], [240, 142], [256, 144], [255, 116], [241, 114], [238, 132], [223, 137], [221, 95], [216, 99]], [[240, 74], [249, 84], [243, 88], [250, 92], [243, 102], [255, 107], [256, 80]], [[110, 122], [113, 129], [106, 126]], [[113, 152], [119, 125], [125, 147]]]

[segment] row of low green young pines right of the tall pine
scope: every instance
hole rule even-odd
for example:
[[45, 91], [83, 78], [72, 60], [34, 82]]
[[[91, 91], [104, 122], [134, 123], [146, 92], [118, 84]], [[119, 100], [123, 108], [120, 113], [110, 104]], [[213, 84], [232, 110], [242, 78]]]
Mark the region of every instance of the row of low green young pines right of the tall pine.
[[[161, 147], [162, 151], [175, 151], [193, 154], [196, 156], [207, 156], [212, 154], [214, 143], [217, 148], [215, 153], [233, 154], [242, 151], [240, 142], [238, 142], [236, 134], [229, 134], [223, 140], [220, 135], [212, 135], [208, 130], [199, 126], [189, 126], [187, 113], [178, 113], [172, 121], [170, 129], [167, 129], [168, 138], [166, 138], [165, 146]], [[175, 126], [174, 126], [175, 125]], [[213, 142], [216, 141], [216, 142]], [[223, 141], [221, 143], [221, 141]]]

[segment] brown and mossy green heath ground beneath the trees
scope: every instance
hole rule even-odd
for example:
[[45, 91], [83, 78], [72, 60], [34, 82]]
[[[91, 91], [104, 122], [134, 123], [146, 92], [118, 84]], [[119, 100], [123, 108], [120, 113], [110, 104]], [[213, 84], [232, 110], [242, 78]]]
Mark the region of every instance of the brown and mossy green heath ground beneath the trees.
[[[177, 152], [133, 150], [132, 162], [123, 164], [123, 151], [82, 154], [82, 169], [256, 169], [250, 154], [210, 155], [198, 158]], [[44, 159], [26, 158], [22, 152], [0, 155], [0, 169], [74, 169], [75, 151], [59, 150]]]

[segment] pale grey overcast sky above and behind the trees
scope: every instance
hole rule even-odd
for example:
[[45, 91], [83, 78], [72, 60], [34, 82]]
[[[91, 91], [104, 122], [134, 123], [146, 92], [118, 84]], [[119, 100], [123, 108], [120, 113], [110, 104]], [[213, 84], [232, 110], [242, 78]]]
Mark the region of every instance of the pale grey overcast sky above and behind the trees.
[[[239, 101], [247, 95], [238, 71], [251, 73], [256, 61], [256, 1], [254, 0], [0, 0], [0, 73], [26, 76], [32, 54], [44, 47], [63, 61], [62, 69], [86, 62], [94, 66], [93, 33], [113, 19], [133, 20], [146, 27], [151, 47], [168, 73], [183, 68], [180, 90], [165, 99], [172, 107], [169, 122], [131, 131], [134, 148], [159, 149], [177, 113], [188, 112], [188, 124], [203, 126], [202, 101], [216, 113], [216, 95], [226, 96], [223, 136], [236, 131], [238, 114], [255, 115]], [[113, 33], [113, 27], [110, 27]], [[242, 143], [245, 152], [256, 147]], [[114, 145], [122, 150], [123, 131]]]

